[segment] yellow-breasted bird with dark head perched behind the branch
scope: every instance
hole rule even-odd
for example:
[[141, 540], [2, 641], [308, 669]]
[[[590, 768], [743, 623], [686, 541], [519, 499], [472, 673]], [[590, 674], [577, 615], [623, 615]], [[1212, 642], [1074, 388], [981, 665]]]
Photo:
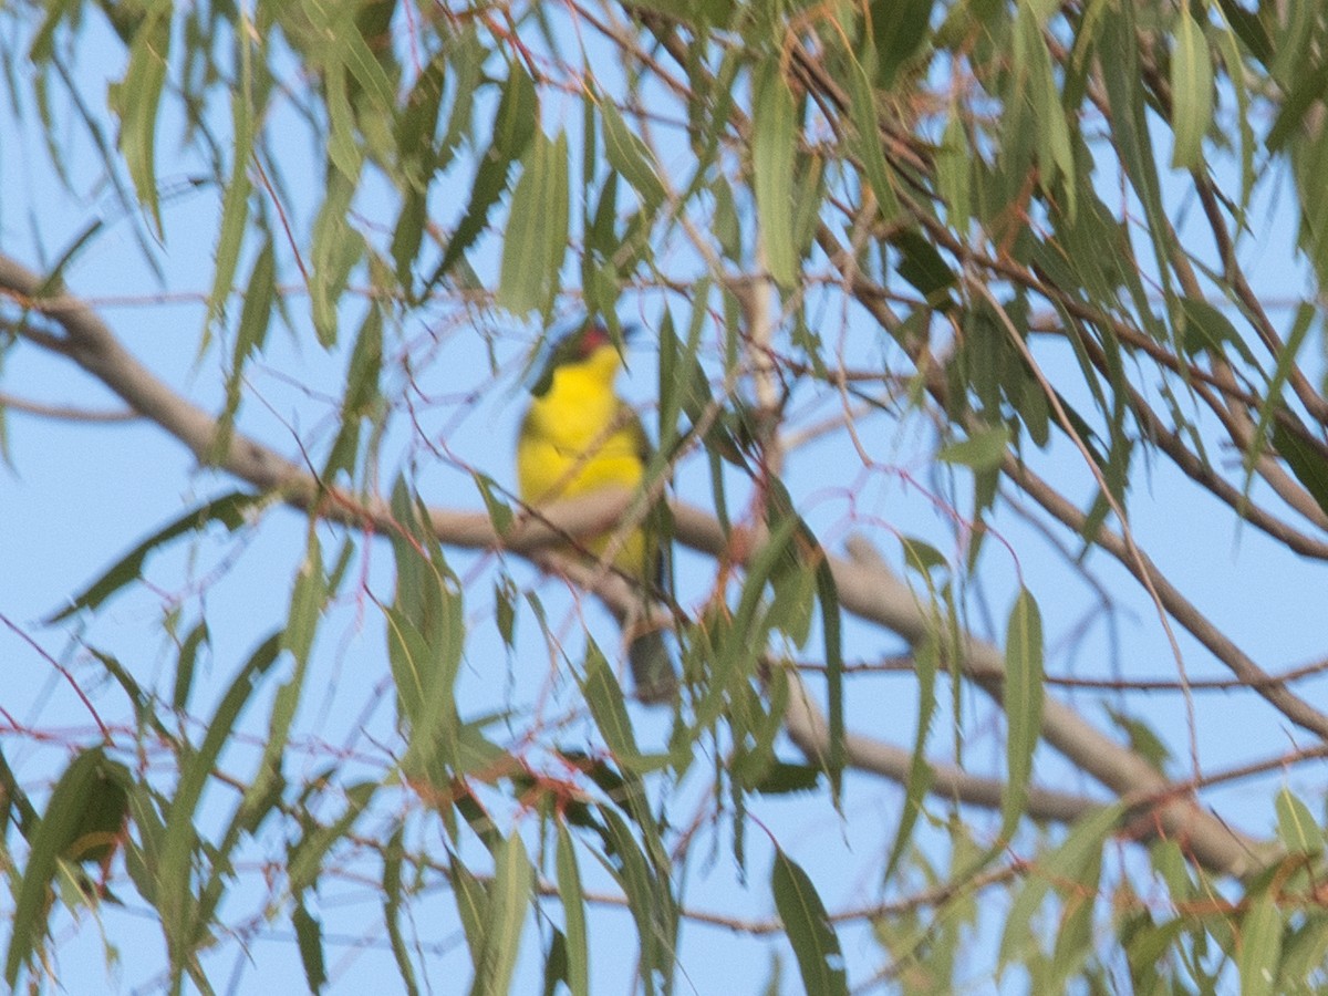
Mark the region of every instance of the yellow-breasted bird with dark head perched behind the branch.
[[[651, 445], [636, 412], [614, 390], [622, 365], [618, 347], [598, 323], [587, 321], [554, 347], [517, 437], [523, 502], [576, 498], [610, 485], [640, 487]], [[614, 533], [591, 537], [584, 551], [600, 558], [614, 539]], [[614, 567], [643, 592], [660, 582], [661, 564], [659, 537], [644, 527], [624, 537], [614, 555]], [[637, 699], [663, 703], [673, 696], [677, 679], [657, 629], [636, 635], [627, 657]]]

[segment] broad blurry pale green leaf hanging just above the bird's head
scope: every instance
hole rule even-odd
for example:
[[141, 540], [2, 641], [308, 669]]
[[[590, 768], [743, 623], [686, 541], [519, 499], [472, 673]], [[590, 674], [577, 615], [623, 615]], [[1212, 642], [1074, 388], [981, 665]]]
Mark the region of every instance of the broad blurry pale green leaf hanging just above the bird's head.
[[511, 197], [503, 236], [498, 304], [523, 315], [543, 308], [558, 291], [567, 247], [567, 135], [535, 135]]

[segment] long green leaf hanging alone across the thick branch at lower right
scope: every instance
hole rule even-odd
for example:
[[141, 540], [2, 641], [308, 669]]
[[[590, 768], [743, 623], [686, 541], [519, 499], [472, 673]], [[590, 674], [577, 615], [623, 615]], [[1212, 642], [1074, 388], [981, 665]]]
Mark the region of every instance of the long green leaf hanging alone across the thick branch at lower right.
[[1005, 722], [1009, 781], [1001, 797], [1001, 835], [1009, 837], [1028, 801], [1042, 729], [1042, 620], [1028, 588], [1015, 599], [1005, 635]]

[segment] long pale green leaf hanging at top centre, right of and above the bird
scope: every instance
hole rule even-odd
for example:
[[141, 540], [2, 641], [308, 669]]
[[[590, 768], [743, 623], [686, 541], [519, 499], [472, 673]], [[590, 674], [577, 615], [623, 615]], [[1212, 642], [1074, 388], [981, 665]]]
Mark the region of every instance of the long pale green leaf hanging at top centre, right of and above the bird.
[[753, 84], [752, 169], [756, 173], [756, 210], [761, 223], [761, 247], [770, 275], [791, 287], [797, 271], [793, 246], [793, 94], [780, 72], [778, 60], [768, 60]]

